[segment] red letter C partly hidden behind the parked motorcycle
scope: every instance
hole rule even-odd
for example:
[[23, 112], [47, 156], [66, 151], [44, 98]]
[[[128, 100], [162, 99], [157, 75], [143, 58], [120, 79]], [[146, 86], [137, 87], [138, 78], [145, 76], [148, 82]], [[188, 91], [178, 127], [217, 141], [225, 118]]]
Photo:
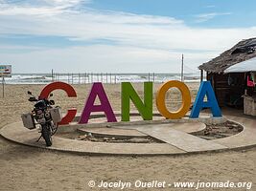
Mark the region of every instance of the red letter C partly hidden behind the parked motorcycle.
[[[66, 92], [67, 96], [77, 97], [77, 93], [71, 85], [64, 82], [53, 82], [44, 87], [40, 94], [40, 98], [47, 98], [54, 90], [63, 90]], [[70, 123], [74, 119], [74, 117], [76, 117], [76, 114], [77, 109], [68, 110], [66, 116], [63, 117], [58, 124], [64, 125]]]

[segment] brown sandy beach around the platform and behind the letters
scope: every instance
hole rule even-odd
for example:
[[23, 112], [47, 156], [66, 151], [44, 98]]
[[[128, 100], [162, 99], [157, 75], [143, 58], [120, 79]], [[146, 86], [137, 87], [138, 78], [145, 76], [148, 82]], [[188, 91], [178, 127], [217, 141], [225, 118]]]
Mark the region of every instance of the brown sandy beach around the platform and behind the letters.
[[[187, 85], [194, 100], [198, 83]], [[160, 84], [154, 85], [154, 92], [159, 86]], [[20, 120], [22, 113], [32, 110], [33, 104], [27, 101], [27, 91], [38, 95], [43, 87], [44, 85], [7, 85], [6, 97], [0, 98], [0, 128]], [[81, 112], [90, 87], [90, 84], [74, 85], [78, 95], [76, 98], [64, 98], [65, 93], [55, 91], [54, 99], [63, 111], [77, 107]], [[143, 96], [142, 84], [134, 84], [134, 88]], [[120, 111], [120, 84], [105, 84], [105, 91], [113, 110]], [[174, 110], [178, 107], [180, 96], [177, 90], [169, 92], [167, 97], [169, 108]], [[153, 107], [156, 110], [155, 104]], [[89, 180], [252, 181], [251, 190], [256, 190], [255, 159], [256, 148], [183, 157], [76, 156], [21, 146], [0, 138], [0, 190], [105, 190], [90, 189], [87, 185]]]

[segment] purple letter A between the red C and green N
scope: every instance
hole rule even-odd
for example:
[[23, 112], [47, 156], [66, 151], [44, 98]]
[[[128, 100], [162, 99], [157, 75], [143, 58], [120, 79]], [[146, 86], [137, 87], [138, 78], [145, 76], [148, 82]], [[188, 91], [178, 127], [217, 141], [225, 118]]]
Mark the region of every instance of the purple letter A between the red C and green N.
[[[96, 96], [99, 97], [101, 105], [94, 105]], [[93, 83], [90, 95], [87, 98], [83, 108], [79, 123], [87, 123], [92, 112], [104, 112], [107, 122], [116, 122], [116, 117], [113, 113], [111, 105], [105, 95], [104, 86], [102, 83]]]

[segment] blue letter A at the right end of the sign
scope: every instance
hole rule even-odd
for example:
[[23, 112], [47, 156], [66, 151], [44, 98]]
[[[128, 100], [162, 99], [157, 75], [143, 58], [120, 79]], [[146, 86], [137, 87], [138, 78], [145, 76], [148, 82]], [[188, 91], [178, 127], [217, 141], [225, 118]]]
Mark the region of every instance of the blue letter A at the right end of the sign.
[[[204, 97], [207, 96], [207, 101], [204, 102]], [[214, 94], [212, 85], [210, 81], [203, 81], [200, 84], [198, 90], [198, 96], [195, 100], [190, 117], [197, 118], [202, 108], [210, 108], [213, 117], [221, 117], [221, 109], [219, 107], [218, 101]]]

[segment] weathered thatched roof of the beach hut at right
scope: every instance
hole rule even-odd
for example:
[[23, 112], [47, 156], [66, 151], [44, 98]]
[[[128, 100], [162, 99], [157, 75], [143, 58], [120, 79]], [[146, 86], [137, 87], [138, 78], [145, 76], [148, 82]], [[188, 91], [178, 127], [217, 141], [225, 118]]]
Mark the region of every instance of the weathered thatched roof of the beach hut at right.
[[222, 73], [230, 66], [256, 57], [255, 49], [256, 37], [242, 40], [231, 49], [221, 53], [218, 57], [203, 63], [198, 69], [209, 73]]

